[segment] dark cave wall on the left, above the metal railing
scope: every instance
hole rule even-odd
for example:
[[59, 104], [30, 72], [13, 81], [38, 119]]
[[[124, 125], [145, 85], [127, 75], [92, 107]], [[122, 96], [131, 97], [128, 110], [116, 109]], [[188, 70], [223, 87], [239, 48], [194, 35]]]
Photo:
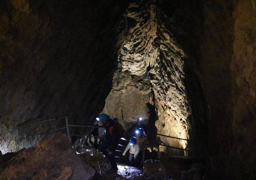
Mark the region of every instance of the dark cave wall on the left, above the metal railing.
[[63, 115], [86, 124], [111, 89], [125, 3], [119, 0], [0, 2], [0, 150], [16, 151], [55, 127], [13, 128]]

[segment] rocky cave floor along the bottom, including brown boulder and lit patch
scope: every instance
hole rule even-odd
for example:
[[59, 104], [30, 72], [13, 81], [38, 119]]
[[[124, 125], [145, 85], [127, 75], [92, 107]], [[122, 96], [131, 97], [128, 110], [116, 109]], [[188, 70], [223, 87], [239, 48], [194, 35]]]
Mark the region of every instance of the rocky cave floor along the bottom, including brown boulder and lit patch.
[[66, 135], [57, 133], [37, 146], [0, 156], [0, 180], [192, 180], [203, 169], [193, 163], [160, 153], [159, 160], [146, 160], [143, 169], [118, 163], [118, 172], [108, 174], [110, 163], [101, 152], [71, 149]]

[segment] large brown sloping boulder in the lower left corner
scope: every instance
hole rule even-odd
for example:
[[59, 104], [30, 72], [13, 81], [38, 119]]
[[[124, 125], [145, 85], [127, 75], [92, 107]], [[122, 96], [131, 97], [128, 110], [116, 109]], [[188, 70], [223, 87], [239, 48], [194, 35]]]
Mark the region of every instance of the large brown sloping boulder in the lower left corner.
[[1, 180], [90, 180], [95, 170], [71, 150], [65, 134], [22, 150], [0, 171]]

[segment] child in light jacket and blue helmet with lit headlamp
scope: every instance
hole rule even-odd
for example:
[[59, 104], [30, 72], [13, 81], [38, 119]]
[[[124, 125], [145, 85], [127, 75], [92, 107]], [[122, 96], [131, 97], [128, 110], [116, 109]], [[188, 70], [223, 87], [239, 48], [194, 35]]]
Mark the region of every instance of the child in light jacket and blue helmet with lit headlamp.
[[123, 156], [125, 156], [126, 152], [129, 151], [129, 162], [131, 165], [137, 164], [138, 163], [138, 154], [140, 152], [140, 148], [137, 143], [136, 137], [131, 137], [128, 145], [126, 146]]

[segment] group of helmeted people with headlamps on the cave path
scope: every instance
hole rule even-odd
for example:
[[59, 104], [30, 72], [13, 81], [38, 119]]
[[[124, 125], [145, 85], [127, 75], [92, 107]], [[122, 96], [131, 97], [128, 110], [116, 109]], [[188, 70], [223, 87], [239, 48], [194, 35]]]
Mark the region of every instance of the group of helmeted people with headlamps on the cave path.
[[[129, 139], [129, 143], [126, 146], [123, 156], [129, 150], [129, 162], [131, 165], [139, 165], [141, 161], [144, 161], [144, 150], [146, 149], [146, 126], [143, 124], [141, 117], [137, 118], [137, 123], [124, 132], [121, 124], [118, 123], [118, 119], [110, 119], [107, 114], [100, 114], [97, 118], [99, 127], [98, 134], [100, 138], [99, 151], [105, 155], [111, 164], [111, 169], [108, 173], [115, 173], [118, 170], [115, 161], [115, 150], [118, 147], [118, 143], [121, 137]], [[95, 141], [94, 141], [95, 142]]]

